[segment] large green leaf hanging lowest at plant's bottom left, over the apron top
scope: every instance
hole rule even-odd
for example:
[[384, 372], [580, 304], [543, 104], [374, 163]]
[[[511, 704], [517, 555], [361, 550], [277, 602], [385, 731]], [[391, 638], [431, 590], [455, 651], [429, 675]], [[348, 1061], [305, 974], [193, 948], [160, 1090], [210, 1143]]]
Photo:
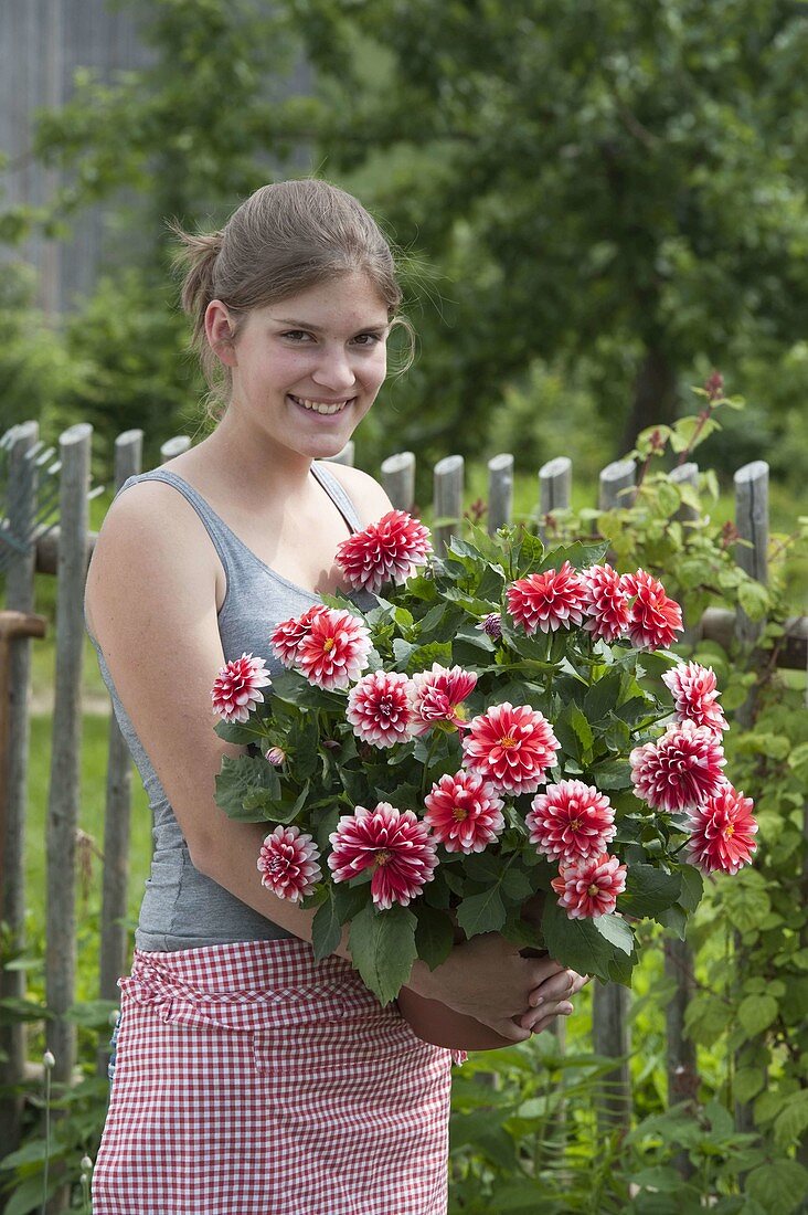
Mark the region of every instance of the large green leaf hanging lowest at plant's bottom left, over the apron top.
[[354, 965], [383, 1005], [395, 1000], [409, 978], [418, 956], [416, 925], [413, 912], [399, 904], [377, 911], [368, 903], [351, 921], [349, 940]]

